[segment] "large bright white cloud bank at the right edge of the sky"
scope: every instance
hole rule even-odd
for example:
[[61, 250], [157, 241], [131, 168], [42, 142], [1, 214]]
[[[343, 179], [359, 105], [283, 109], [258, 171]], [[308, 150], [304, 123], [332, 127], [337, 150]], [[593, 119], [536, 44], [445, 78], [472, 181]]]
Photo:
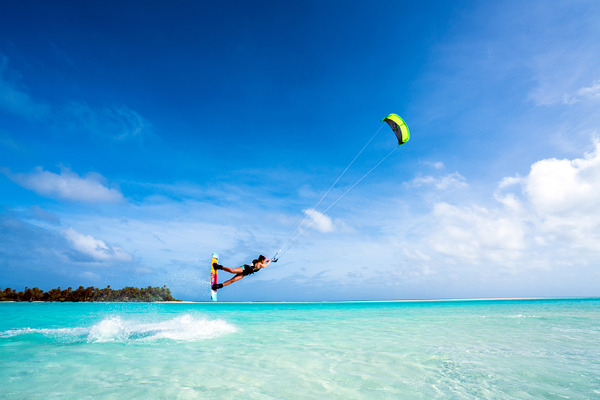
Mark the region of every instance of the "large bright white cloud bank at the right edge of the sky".
[[437, 203], [430, 248], [470, 264], [588, 263], [600, 255], [600, 144], [582, 158], [544, 159], [498, 184], [496, 206]]

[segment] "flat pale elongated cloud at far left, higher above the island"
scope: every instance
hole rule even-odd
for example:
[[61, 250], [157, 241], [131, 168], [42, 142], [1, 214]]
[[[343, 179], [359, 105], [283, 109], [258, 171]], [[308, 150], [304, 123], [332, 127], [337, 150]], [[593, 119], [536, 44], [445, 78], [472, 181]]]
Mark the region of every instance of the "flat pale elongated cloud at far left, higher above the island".
[[104, 178], [95, 173], [80, 177], [68, 169], [55, 174], [41, 167], [24, 174], [14, 174], [6, 169], [2, 172], [20, 186], [45, 197], [87, 203], [114, 203], [123, 200], [119, 190], [106, 187]]

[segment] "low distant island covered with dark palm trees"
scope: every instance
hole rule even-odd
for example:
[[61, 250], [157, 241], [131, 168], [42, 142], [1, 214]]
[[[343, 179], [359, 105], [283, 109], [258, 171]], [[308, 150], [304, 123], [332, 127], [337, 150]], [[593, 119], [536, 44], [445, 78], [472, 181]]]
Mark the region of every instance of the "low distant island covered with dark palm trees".
[[71, 287], [61, 290], [60, 287], [50, 289], [47, 292], [38, 288], [25, 287], [24, 291], [17, 292], [6, 288], [0, 291], [0, 301], [58, 301], [58, 302], [151, 302], [151, 301], [177, 301], [171, 296], [171, 290], [167, 286], [147, 288], [125, 287], [123, 289], [111, 289], [108, 285], [104, 289], [93, 286], [84, 288], [79, 286], [73, 290]]

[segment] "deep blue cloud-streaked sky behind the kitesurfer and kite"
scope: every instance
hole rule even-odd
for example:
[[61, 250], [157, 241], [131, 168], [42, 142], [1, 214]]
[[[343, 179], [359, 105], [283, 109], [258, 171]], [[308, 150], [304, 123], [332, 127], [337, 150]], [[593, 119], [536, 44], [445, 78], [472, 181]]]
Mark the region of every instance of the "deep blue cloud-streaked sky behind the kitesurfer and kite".
[[[0, 285], [207, 300], [212, 252], [271, 256], [316, 215], [220, 299], [597, 296], [598, 21], [596, 1], [5, 5]], [[318, 217], [389, 113], [411, 140]], [[317, 211], [394, 143], [383, 126]]]

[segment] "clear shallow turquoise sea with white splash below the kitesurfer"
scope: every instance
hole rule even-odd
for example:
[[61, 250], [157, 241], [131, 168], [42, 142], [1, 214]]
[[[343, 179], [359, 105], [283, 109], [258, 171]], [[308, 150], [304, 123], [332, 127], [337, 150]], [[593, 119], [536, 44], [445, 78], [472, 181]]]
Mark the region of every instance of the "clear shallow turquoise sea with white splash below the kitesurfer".
[[3, 303], [6, 399], [600, 399], [600, 299]]

